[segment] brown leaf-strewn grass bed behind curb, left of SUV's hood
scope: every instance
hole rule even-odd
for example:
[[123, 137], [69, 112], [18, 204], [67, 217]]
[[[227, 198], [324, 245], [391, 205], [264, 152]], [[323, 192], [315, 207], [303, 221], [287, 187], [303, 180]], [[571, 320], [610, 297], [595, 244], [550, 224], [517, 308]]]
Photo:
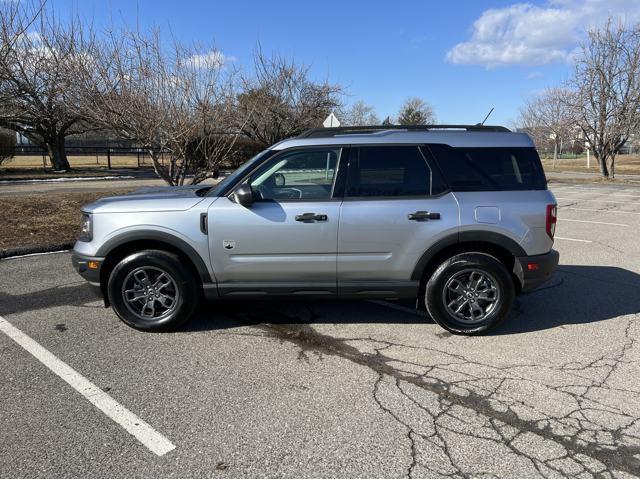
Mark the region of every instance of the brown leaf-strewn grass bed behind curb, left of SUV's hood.
[[0, 250], [73, 242], [83, 205], [129, 191], [0, 197]]

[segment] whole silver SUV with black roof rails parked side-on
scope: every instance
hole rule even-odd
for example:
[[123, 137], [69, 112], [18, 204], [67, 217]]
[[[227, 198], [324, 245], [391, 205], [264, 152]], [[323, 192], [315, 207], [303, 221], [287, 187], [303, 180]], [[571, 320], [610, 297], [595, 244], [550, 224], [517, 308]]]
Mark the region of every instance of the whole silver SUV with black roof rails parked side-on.
[[215, 187], [83, 208], [73, 264], [118, 316], [173, 329], [202, 298], [417, 299], [453, 333], [498, 325], [549, 279], [556, 200], [503, 127], [310, 130]]

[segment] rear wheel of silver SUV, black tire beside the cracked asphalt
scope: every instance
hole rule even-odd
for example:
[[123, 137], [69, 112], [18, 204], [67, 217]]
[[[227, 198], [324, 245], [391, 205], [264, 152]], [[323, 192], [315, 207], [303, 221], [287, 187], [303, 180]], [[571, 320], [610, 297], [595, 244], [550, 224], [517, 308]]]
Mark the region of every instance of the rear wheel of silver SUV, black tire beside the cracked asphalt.
[[[507, 268], [484, 253], [453, 256], [426, 278], [427, 312], [454, 334], [482, 334], [495, 328], [511, 311], [514, 297], [515, 287]], [[454, 314], [458, 308], [460, 311]]]

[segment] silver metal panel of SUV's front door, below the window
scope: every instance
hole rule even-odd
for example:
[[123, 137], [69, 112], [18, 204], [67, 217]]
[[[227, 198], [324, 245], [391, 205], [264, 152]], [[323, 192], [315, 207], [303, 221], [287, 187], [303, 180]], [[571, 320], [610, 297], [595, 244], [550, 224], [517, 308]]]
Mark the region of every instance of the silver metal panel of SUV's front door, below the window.
[[[296, 221], [304, 213], [327, 219]], [[209, 211], [210, 255], [218, 283], [335, 285], [339, 213], [339, 201], [259, 201], [247, 208], [220, 198]]]

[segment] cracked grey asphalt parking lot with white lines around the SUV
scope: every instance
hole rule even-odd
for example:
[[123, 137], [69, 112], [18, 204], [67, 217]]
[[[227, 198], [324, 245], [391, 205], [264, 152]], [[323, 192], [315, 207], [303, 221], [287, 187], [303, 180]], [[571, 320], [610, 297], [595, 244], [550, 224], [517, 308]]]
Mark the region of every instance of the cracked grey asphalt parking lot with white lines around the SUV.
[[482, 337], [384, 301], [141, 333], [69, 253], [1, 261], [0, 476], [640, 475], [640, 188], [552, 190], [559, 269]]

